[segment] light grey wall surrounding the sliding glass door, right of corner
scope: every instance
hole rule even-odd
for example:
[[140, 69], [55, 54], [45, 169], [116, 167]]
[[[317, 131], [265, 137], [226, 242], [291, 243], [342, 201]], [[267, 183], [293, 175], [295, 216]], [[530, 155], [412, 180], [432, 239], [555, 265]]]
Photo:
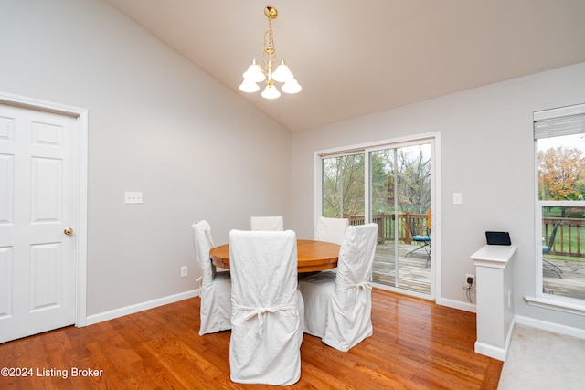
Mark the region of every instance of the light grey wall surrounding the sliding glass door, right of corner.
[[[297, 233], [313, 234], [315, 151], [441, 132], [439, 298], [467, 302], [462, 286], [465, 274], [474, 273], [470, 255], [485, 244], [485, 230], [505, 230], [518, 246], [516, 314], [583, 329], [583, 317], [531, 307], [523, 297], [536, 292], [541, 245], [535, 239], [532, 113], [583, 103], [584, 87], [582, 63], [293, 133]], [[462, 205], [452, 204], [455, 192], [463, 194]]]

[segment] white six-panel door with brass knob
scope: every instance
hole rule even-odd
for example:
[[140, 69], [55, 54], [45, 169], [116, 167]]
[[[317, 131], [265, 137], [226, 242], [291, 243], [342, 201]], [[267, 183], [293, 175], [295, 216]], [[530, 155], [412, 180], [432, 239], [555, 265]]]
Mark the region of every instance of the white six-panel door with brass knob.
[[0, 343], [75, 323], [76, 121], [0, 104]]

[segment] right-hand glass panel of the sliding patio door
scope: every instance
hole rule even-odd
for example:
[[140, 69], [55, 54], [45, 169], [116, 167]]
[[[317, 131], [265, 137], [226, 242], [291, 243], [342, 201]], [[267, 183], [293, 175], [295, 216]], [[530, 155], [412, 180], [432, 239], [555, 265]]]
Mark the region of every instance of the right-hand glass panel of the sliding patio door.
[[371, 150], [369, 167], [379, 231], [372, 281], [431, 296], [431, 143]]

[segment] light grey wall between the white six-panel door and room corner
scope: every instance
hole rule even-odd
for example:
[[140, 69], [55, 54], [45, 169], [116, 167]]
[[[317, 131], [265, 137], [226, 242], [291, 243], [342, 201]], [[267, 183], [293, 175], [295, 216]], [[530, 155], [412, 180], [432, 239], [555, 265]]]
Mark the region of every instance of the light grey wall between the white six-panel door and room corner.
[[287, 217], [290, 132], [111, 5], [2, 1], [0, 47], [2, 92], [89, 110], [88, 315], [197, 289], [195, 220]]

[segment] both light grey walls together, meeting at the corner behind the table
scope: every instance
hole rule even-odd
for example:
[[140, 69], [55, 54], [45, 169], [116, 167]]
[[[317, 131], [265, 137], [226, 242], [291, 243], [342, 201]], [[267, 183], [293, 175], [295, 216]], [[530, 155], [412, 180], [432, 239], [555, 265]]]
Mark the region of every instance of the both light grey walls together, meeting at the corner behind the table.
[[[3, 1], [0, 33], [2, 92], [89, 110], [89, 315], [196, 289], [197, 219], [216, 243], [276, 213], [313, 237], [314, 151], [439, 131], [442, 299], [466, 302], [470, 254], [505, 229], [519, 247], [516, 314], [583, 327], [522, 296], [539, 245], [532, 112], [585, 102], [585, 64], [291, 134], [105, 2]], [[124, 191], [144, 205], [124, 206]]]

